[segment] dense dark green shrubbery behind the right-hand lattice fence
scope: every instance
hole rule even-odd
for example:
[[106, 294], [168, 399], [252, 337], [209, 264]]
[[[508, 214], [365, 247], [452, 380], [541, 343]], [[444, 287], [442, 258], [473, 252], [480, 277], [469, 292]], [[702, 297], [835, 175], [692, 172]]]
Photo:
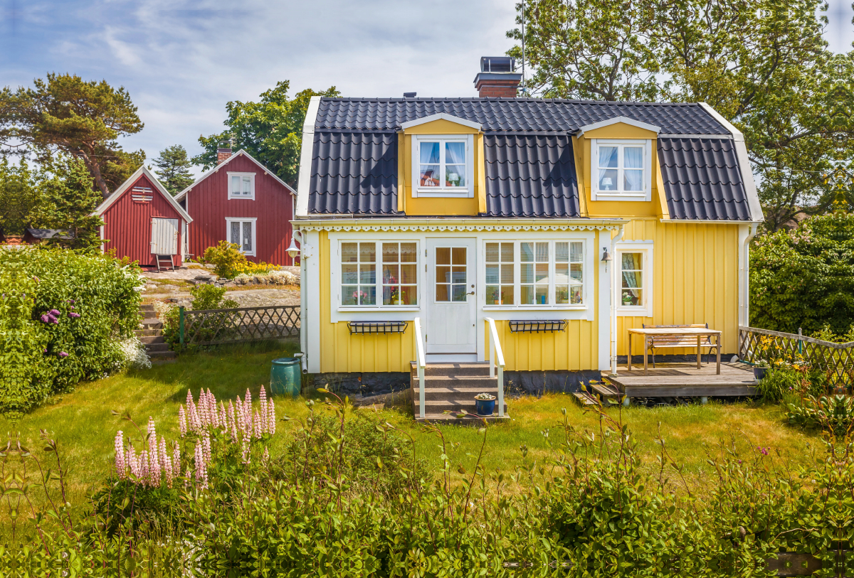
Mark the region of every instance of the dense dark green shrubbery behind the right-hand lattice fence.
[[854, 322], [854, 215], [810, 217], [757, 239], [751, 251], [754, 327], [805, 334]]

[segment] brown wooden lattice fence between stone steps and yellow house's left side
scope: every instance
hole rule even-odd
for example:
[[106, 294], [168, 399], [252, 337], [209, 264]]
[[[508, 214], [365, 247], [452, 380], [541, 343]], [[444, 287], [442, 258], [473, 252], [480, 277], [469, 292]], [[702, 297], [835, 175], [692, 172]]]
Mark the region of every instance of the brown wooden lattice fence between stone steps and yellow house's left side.
[[182, 308], [179, 333], [182, 346], [296, 337], [300, 334], [300, 308], [297, 305], [199, 311]]

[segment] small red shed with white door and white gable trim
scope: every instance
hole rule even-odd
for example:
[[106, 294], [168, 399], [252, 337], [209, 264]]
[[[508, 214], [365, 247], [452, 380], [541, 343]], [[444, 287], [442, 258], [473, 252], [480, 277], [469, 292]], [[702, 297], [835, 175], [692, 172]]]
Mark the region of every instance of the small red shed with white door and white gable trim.
[[143, 267], [155, 267], [158, 255], [172, 257], [176, 267], [181, 264], [184, 231], [193, 219], [144, 165], [95, 214], [104, 220], [102, 251], [115, 249], [116, 257], [129, 257]]

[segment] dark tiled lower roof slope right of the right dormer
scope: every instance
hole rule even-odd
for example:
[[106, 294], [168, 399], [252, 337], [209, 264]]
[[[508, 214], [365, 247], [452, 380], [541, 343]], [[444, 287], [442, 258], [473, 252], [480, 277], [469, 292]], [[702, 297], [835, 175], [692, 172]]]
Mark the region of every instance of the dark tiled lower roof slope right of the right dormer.
[[750, 220], [731, 139], [658, 138], [658, 159], [670, 218]]

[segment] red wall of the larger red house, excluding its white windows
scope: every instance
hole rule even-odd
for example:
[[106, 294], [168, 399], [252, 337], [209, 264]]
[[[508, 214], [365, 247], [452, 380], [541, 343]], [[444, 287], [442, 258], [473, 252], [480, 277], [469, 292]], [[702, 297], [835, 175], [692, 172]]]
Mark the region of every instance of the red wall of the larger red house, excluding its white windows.
[[[228, 198], [229, 172], [255, 173], [254, 200]], [[293, 264], [286, 251], [290, 244], [290, 222], [294, 218], [293, 197], [288, 188], [264, 172], [259, 165], [239, 155], [187, 192], [184, 210], [193, 217], [188, 232], [193, 258], [202, 257], [205, 249], [226, 240], [226, 217], [256, 217], [255, 255], [248, 256], [249, 261]]]

